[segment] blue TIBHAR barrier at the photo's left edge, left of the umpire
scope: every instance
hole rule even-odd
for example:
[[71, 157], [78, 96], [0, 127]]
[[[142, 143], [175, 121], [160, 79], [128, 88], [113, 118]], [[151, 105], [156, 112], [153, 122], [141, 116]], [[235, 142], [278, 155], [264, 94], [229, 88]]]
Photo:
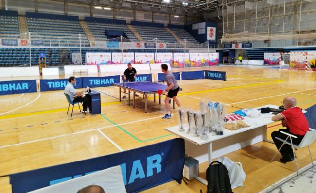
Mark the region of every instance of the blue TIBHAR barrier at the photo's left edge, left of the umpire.
[[0, 82], [0, 95], [37, 92], [36, 80], [14, 80]]

